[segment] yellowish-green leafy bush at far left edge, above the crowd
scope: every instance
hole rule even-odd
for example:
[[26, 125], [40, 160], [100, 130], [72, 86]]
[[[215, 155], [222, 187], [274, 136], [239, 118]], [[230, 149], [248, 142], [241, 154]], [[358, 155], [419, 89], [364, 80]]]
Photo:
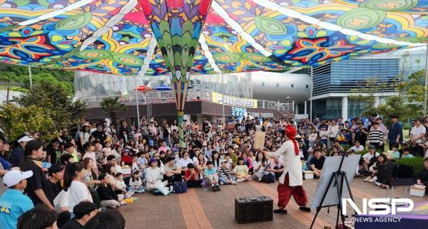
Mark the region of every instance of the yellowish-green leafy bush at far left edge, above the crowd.
[[41, 132], [50, 138], [54, 134], [54, 120], [47, 117], [42, 107], [21, 107], [12, 103], [0, 106], [0, 127], [11, 140], [24, 132]]

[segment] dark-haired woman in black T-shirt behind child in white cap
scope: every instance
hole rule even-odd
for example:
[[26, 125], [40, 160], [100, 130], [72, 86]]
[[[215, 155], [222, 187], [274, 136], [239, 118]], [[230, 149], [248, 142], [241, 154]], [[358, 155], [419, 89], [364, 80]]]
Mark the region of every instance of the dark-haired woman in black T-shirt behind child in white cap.
[[24, 149], [24, 161], [21, 164], [21, 171], [31, 170], [33, 171], [33, 176], [27, 179], [25, 193], [31, 198], [34, 205], [44, 203], [52, 210], [55, 210], [55, 196], [42, 170], [43, 154], [43, 143], [37, 140], [27, 142]]

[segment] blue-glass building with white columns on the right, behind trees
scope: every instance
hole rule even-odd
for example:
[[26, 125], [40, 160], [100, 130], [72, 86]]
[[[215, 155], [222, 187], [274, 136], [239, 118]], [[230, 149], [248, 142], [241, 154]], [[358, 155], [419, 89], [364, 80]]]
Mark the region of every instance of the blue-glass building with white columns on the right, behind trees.
[[[409, 53], [406, 63], [402, 58], [405, 53]], [[380, 104], [384, 102], [385, 97], [395, 95], [395, 89], [390, 82], [393, 82], [397, 75], [404, 71], [404, 75], [408, 77], [426, 68], [426, 55], [425, 47], [414, 48], [343, 60], [313, 68], [313, 90], [310, 97], [312, 118], [357, 117], [364, 110], [366, 103], [350, 98], [355, 94], [353, 89], [362, 87], [367, 78], [375, 78], [377, 83], [389, 85], [375, 94], [377, 104]]]

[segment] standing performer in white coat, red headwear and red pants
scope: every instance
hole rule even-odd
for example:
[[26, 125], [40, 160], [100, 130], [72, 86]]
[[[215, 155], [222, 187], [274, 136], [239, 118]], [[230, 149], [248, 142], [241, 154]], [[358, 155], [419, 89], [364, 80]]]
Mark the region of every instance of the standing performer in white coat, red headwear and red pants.
[[310, 212], [305, 189], [303, 189], [302, 166], [300, 165], [299, 147], [295, 140], [296, 129], [290, 124], [285, 128], [285, 142], [280, 149], [269, 152], [269, 157], [282, 156], [284, 171], [277, 186], [278, 208], [274, 213], [287, 214], [285, 207], [291, 196], [300, 206], [300, 210]]

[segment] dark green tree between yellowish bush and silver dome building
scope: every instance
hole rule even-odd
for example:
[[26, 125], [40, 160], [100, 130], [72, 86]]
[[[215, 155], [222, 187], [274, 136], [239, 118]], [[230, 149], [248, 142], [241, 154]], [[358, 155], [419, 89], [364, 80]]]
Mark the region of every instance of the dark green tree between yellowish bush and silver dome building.
[[23, 107], [32, 105], [41, 107], [45, 117], [50, 117], [57, 128], [74, 124], [77, 116], [86, 107], [84, 101], [73, 101], [63, 87], [44, 80], [35, 84], [28, 92], [24, 92], [21, 97], [16, 97], [15, 101]]

